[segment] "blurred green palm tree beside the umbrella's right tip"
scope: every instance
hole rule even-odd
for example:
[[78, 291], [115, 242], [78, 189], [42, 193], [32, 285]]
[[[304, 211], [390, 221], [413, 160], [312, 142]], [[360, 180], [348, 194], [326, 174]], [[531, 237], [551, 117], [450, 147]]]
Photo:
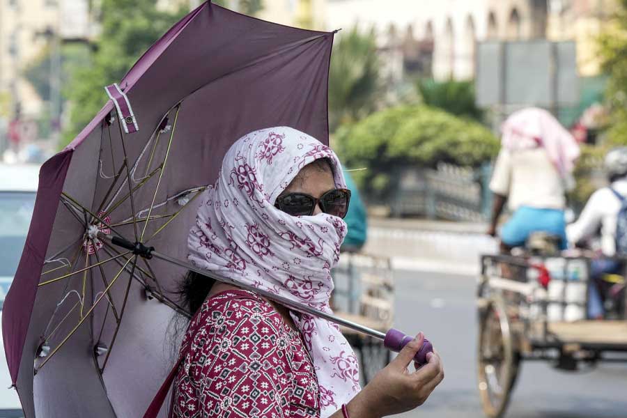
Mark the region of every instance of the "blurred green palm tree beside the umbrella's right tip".
[[329, 124], [359, 120], [376, 109], [380, 62], [374, 33], [353, 27], [338, 35], [329, 72]]

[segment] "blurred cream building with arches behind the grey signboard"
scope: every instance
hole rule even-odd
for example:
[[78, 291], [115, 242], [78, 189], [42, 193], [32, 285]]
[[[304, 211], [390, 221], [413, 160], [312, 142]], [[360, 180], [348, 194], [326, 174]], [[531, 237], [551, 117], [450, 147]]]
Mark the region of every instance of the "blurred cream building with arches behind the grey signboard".
[[327, 29], [375, 29], [393, 79], [472, 79], [475, 42], [544, 38], [539, 0], [327, 0]]

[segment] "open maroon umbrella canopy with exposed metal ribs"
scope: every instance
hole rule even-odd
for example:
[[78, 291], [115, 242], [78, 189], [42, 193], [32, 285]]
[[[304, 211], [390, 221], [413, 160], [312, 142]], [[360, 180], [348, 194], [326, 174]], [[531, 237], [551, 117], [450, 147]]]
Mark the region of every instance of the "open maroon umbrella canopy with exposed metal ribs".
[[196, 197], [233, 141], [288, 125], [327, 143], [332, 40], [203, 3], [107, 88], [111, 100], [42, 166], [2, 316], [26, 417], [143, 415], [176, 362], [185, 269], [98, 233], [185, 259]]

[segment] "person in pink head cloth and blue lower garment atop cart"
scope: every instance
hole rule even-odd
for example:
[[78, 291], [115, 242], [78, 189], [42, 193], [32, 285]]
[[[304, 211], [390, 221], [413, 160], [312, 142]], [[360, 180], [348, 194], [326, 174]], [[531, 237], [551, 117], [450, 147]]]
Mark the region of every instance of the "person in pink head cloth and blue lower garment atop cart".
[[566, 249], [566, 191], [580, 150], [570, 132], [548, 111], [529, 107], [514, 112], [502, 125], [502, 146], [490, 190], [494, 194], [488, 234], [497, 234], [505, 202], [513, 215], [500, 231], [502, 250], [525, 245], [544, 231], [559, 236]]

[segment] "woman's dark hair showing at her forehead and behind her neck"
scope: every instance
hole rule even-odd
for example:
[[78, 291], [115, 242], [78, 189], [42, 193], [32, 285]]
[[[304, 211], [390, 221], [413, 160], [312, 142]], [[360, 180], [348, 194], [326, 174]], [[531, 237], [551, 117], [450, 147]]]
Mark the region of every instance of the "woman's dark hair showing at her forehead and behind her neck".
[[[329, 157], [314, 160], [305, 167], [314, 167], [320, 171], [334, 173], [333, 162]], [[300, 176], [300, 173], [302, 173], [302, 170], [295, 176], [295, 179], [298, 178], [300, 181], [304, 181], [305, 177]], [[192, 272], [192, 270], [187, 271], [187, 274], [185, 274], [183, 281], [181, 281], [178, 287], [180, 302], [183, 302], [183, 306], [187, 307], [192, 315], [196, 314], [196, 311], [198, 311], [203, 305], [203, 302], [205, 302], [214, 283], [215, 280], [210, 277]]]

